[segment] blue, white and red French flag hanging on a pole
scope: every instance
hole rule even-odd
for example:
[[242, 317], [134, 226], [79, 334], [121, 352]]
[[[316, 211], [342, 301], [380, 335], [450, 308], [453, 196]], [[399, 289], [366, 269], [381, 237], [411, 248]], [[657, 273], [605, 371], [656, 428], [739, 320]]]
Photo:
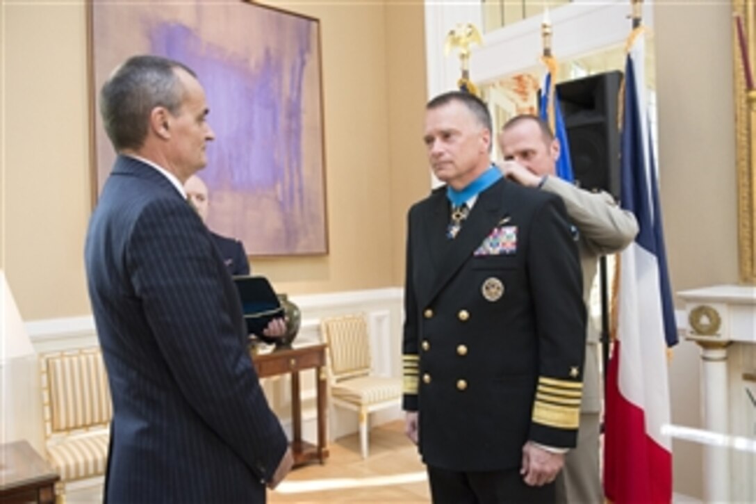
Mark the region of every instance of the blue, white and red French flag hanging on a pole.
[[616, 340], [606, 374], [604, 490], [612, 502], [671, 502], [667, 348], [677, 343], [646, 109], [643, 28], [624, 76], [621, 204], [640, 232], [621, 253]]

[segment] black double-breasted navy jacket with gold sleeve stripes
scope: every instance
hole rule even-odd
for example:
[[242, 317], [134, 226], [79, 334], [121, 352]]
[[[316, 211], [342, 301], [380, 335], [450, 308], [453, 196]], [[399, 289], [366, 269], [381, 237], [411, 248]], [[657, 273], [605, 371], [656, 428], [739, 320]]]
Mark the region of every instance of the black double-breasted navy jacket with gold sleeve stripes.
[[443, 188], [409, 212], [404, 409], [427, 465], [519, 468], [522, 446], [575, 446], [585, 309], [575, 234], [553, 194], [506, 179], [454, 240]]

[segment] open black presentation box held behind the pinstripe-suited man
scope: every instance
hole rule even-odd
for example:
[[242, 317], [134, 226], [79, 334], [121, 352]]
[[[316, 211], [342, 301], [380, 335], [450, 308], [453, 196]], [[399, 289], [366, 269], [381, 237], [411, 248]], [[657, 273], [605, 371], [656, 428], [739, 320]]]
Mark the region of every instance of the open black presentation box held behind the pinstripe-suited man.
[[275, 291], [264, 276], [234, 276], [234, 284], [239, 292], [244, 322], [249, 334], [255, 334], [265, 343], [273, 343], [274, 338], [266, 338], [262, 330], [273, 319], [283, 319], [281, 306]]

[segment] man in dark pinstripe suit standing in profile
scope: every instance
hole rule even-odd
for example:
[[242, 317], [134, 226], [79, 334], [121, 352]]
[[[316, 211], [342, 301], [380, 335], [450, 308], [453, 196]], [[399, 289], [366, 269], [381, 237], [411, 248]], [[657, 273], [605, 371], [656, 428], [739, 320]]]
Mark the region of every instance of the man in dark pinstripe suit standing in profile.
[[[118, 152], [85, 263], [110, 390], [108, 502], [265, 502], [293, 458], [246, 351], [237, 291], [183, 182], [206, 164], [205, 94], [175, 61], [105, 83]], [[268, 334], [283, 334], [283, 321]]]

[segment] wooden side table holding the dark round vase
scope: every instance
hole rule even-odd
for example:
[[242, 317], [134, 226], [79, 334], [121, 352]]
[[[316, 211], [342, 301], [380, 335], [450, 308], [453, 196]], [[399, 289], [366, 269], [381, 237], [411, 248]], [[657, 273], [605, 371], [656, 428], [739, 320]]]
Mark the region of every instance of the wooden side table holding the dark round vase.
[[[328, 458], [326, 444], [326, 345], [311, 344], [301, 347], [280, 348], [269, 353], [253, 353], [252, 362], [260, 378], [291, 375], [291, 417], [294, 466], [312, 460], [322, 463]], [[318, 445], [302, 440], [302, 397], [299, 395], [299, 372], [314, 369], [318, 384]]]

